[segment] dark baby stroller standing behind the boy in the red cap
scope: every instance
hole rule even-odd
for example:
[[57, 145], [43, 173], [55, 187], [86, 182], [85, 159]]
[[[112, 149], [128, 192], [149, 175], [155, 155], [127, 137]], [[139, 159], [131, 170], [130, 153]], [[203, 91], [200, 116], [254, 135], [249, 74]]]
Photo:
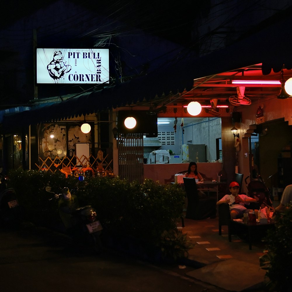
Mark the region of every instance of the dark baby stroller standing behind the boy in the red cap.
[[246, 187], [248, 190], [248, 197], [256, 199], [256, 203], [250, 203], [249, 208], [251, 209], [265, 209], [268, 207], [271, 211], [274, 211], [274, 207], [270, 198], [270, 191], [264, 184], [261, 178], [251, 180], [247, 183], [248, 177], [245, 178]]

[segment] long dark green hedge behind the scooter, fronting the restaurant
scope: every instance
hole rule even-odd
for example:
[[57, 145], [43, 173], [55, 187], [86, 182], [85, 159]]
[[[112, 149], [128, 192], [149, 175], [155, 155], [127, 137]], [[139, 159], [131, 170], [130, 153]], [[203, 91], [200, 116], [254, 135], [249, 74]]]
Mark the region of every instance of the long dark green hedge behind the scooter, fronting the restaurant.
[[[18, 194], [25, 208], [25, 219], [35, 224], [50, 226], [60, 221], [58, 202], [49, 200], [63, 187], [72, 190], [77, 178], [62, 173], [10, 171], [10, 186]], [[118, 237], [135, 238], [150, 253], [160, 252], [168, 258], [186, 256], [190, 243], [176, 228], [182, 216], [184, 191], [178, 185], [160, 185], [152, 180], [144, 183], [128, 182], [109, 177], [86, 178], [79, 183], [79, 205], [92, 205], [105, 232]]]

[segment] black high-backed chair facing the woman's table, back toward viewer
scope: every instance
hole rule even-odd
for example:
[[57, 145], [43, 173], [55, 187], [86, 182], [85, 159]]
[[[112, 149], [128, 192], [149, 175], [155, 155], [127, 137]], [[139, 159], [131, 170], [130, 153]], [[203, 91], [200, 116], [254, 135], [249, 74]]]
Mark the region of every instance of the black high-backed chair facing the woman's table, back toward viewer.
[[216, 217], [216, 199], [199, 198], [196, 180], [194, 178], [183, 178], [187, 194], [187, 219], [207, 219]]

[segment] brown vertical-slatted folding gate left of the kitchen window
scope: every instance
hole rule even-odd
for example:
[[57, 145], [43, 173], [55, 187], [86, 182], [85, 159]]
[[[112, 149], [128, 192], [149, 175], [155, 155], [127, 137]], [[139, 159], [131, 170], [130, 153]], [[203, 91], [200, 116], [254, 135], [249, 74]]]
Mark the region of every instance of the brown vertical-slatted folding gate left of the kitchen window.
[[144, 180], [143, 136], [127, 134], [119, 137], [119, 177], [129, 181]]

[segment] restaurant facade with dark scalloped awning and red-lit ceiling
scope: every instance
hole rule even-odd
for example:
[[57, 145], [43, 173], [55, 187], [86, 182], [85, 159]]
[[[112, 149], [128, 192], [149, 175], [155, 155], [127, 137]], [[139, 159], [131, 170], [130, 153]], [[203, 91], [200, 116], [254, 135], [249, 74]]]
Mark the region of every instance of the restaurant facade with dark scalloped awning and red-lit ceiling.
[[[234, 100], [233, 104], [229, 102], [230, 97], [238, 97], [240, 94], [237, 88], [243, 84], [232, 84], [234, 76], [229, 72], [236, 72], [241, 80], [242, 76], [251, 80], [253, 74], [261, 80], [281, 81], [283, 76], [285, 80], [292, 77], [289, 51], [291, 40], [285, 38], [286, 33], [282, 29], [290, 26], [291, 18], [283, 17], [236, 43], [207, 55], [198, 57], [191, 52], [184, 58], [169, 62], [168, 66], [130, 81], [104, 86], [100, 90], [67, 95], [63, 100], [49, 98], [43, 99], [42, 103], [35, 101], [38, 107], [34, 109], [4, 115], [1, 128], [4, 166], [6, 169], [19, 166], [42, 169], [43, 162], [48, 157], [54, 160], [58, 156], [62, 161], [62, 157], [67, 156], [70, 161], [75, 155], [76, 143], [85, 143], [91, 145], [89, 153], [92, 154], [91, 161], [87, 162], [95, 165], [98, 151], [102, 150], [103, 158], [107, 157], [102, 160], [104, 166], [115, 174], [129, 179], [151, 178], [164, 183], [164, 179], [186, 170], [188, 164], [144, 164], [143, 135], [135, 136], [130, 150], [125, 148], [132, 138], [119, 133], [119, 111], [149, 111], [153, 108], [153, 103], [155, 109], [166, 107], [157, 111], [157, 116], [178, 118], [176, 135], [182, 135], [187, 125], [180, 126], [180, 119], [191, 117], [184, 106], [191, 100], [201, 100], [203, 93], [197, 93], [196, 90], [215, 79], [214, 84], [208, 85], [211, 90], [207, 91], [204, 99], [210, 103], [210, 100], [218, 98], [218, 105], [228, 105], [228, 108], [218, 108], [218, 111], [216, 107], [216, 116], [221, 119], [222, 161], [199, 161], [201, 172], [215, 179], [217, 173], [224, 170], [227, 182], [233, 180], [236, 172], [247, 177], [253, 166], [251, 137], [257, 135], [260, 175], [270, 187], [281, 188], [289, 183], [288, 180], [280, 182], [279, 176], [284, 175], [281, 159], [289, 158], [285, 155], [289, 156], [292, 141], [292, 100], [288, 97], [278, 98], [281, 84], [273, 86], [268, 93], [262, 84], [258, 86], [262, 87], [261, 94], [247, 98], [250, 103], [247, 101], [246, 104], [239, 102], [234, 105]], [[228, 75], [230, 83], [225, 79], [216, 79], [220, 75]], [[212, 95], [211, 91], [215, 91], [217, 87], [224, 88], [226, 92]], [[244, 87], [245, 93], [248, 93], [249, 86]], [[211, 119], [214, 118], [214, 112], [202, 110], [196, 117]], [[91, 125], [92, 130], [88, 135], [80, 131], [84, 122]], [[239, 137], [232, 134], [233, 127], [238, 129]], [[59, 135], [54, 144], [46, 140], [46, 135], [50, 132]], [[235, 145], [236, 138], [239, 139], [238, 145]], [[60, 143], [56, 145], [57, 142]], [[130, 156], [127, 155], [128, 151], [131, 151]]]

